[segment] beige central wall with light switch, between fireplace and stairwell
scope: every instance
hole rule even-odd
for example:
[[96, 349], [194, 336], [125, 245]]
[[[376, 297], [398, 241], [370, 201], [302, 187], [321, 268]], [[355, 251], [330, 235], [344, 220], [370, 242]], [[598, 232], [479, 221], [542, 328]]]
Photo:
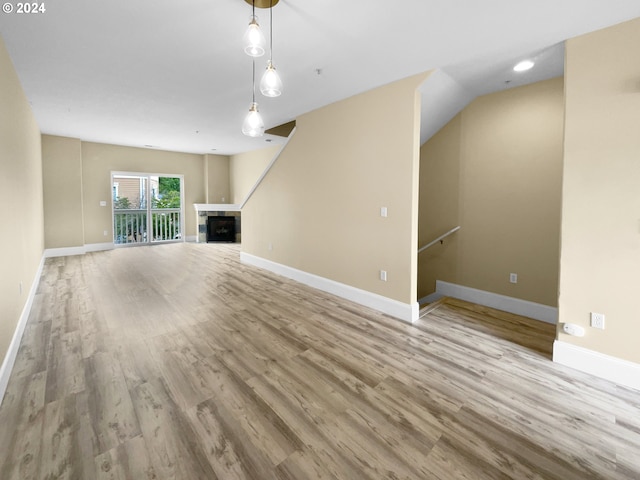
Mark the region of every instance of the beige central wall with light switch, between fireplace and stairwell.
[[[243, 251], [415, 302], [416, 88], [426, 76], [298, 118], [296, 134], [242, 212]], [[381, 269], [387, 282], [379, 280]]]

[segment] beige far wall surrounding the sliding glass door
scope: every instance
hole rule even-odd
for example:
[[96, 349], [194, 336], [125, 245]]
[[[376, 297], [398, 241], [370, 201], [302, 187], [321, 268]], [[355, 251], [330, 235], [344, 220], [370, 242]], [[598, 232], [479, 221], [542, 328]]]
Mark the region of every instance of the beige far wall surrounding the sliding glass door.
[[[111, 243], [111, 172], [184, 175], [186, 235], [195, 236], [194, 203], [205, 201], [202, 155], [82, 142], [85, 243]], [[100, 201], [107, 202], [106, 207]], [[107, 235], [104, 235], [104, 231]]]

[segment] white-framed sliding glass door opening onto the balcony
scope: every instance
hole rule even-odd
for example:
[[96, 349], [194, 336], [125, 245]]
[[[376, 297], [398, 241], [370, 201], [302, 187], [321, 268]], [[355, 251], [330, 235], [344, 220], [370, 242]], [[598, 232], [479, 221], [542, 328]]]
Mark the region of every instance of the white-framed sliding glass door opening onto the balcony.
[[113, 243], [182, 241], [183, 182], [182, 175], [112, 173]]

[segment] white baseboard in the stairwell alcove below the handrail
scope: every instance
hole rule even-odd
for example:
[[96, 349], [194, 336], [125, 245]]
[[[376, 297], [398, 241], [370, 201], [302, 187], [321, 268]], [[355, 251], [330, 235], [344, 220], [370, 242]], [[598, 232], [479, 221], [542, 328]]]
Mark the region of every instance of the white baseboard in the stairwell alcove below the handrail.
[[541, 322], [554, 325], [558, 323], [558, 309], [541, 303], [507, 297], [497, 293], [443, 282], [442, 280], [436, 280], [436, 292], [446, 297], [459, 298], [460, 300], [522, 315]]

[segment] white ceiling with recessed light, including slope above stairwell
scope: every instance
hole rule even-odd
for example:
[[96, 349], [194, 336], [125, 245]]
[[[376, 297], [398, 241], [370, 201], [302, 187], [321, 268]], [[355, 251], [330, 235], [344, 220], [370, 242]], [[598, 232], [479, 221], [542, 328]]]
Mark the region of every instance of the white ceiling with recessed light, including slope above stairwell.
[[[281, 140], [240, 132], [251, 102], [245, 0], [41, 1], [45, 13], [0, 14], [0, 33], [43, 133], [219, 154]], [[258, 15], [268, 36], [268, 10]], [[257, 101], [270, 128], [435, 69], [422, 88], [424, 141], [477, 95], [561, 75], [565, 39], [638, 16], [638, 0], [280, 0], [284, 92]], [[536, 67], [515, 74], [524, 57]]]

